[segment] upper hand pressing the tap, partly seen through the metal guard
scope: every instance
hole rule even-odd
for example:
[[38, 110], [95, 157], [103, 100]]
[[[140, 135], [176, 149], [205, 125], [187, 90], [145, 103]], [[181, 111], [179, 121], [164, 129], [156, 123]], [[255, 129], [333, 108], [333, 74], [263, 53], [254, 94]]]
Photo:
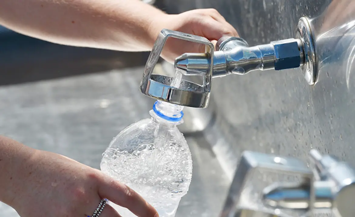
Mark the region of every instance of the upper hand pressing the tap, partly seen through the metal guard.
[[[183, 33], [203, 36], [214, 45], [222, 36], [239, 37], [237, 31], [215, 9], [197, 9], [178, 15], [159, 15], [155, 18], [149, 30], [153, 32], [154, 40], [162, 29], [171, 29]], [[183, 53], [204, 53], [205, 45], [194, 42], [169, 38], [166, 41], [162, 57], [168, 62]]]

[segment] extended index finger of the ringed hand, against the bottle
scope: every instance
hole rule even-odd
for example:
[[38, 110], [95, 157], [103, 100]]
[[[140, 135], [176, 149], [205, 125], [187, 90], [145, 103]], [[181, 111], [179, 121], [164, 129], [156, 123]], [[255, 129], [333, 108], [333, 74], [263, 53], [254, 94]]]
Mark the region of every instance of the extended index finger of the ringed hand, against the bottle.
[[138, 217], [154, 217], [158, 215], [153, 206], [148, 204], [134, 190], [113, 179], [105, 179], [99, 184], [99, 195], [102, 198], [107, 198], [119, 206], [126, 207]]

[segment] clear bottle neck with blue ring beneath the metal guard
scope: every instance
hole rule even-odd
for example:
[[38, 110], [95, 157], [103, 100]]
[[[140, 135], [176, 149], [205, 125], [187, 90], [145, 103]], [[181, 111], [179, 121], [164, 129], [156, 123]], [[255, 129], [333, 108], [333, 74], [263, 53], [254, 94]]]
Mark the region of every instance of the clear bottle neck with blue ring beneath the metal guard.
[[164, 121], [168, 121], [170, 123], [181, 124], [182, 116], [184, 116], [182, 109], [184, 109], [184, 107], [181, 105], [175, 105], [158, 100], [153, 105], [151, 115], [153, 118], [163, 119]]

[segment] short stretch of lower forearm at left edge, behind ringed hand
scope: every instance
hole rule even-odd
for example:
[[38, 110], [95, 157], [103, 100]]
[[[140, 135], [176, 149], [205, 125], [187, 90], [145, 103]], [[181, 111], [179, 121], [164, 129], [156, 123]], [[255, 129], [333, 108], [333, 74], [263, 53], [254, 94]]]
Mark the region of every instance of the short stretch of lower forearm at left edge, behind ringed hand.
[[12, 205], [16, 195], [21, 196], [24, 179], [31, 170], [26, 162], [34, 152], [34, 149], [0, 136], [0, 201]]

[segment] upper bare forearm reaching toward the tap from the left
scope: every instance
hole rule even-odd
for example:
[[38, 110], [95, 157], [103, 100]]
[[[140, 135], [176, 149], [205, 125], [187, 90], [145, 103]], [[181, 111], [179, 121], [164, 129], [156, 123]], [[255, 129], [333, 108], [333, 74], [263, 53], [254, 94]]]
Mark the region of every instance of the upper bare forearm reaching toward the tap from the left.
[[0, 24], [58, 44], [145, 51], [164, 13], [140, 0], [1, 0]]

